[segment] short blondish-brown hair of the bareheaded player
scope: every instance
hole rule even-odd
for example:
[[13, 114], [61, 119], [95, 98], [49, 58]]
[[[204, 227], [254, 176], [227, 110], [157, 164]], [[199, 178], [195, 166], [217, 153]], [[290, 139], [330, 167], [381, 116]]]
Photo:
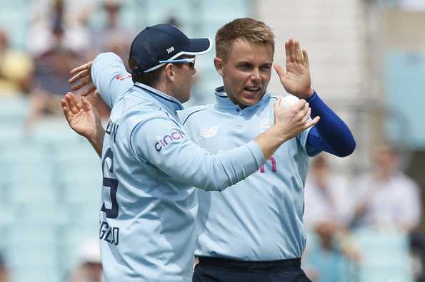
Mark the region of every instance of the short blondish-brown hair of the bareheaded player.
[[231, 45], [238, 39], [259, 46], [270, 44], [274, 52], [274, 34], [271, 28], [262, 21], [241, 18], [226, 23], [217, 31], [216, 56], [226, 61]]

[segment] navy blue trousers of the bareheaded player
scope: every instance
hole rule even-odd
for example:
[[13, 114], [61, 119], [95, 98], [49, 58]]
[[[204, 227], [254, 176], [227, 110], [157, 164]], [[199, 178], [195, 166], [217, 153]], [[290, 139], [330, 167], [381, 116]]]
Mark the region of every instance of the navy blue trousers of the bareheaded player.
[[299, 258], [281, 261], [234, 261], [199, 257], [193, 282], [311, 282]]

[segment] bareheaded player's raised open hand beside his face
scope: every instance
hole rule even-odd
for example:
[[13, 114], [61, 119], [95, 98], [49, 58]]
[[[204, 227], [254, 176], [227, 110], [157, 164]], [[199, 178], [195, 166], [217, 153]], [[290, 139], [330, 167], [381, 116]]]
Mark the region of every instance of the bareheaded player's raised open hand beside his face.
[[277, 63], [274, 69], [279, 75], [281, 84], [286, 92], [296, 95], [300, 99], [307, 99], [313, 94], [311, 90], [311, 77], [309, 56], [307, 51], [302, 50], [299, 41], [289, 39], [285, 43], [286, 73]]

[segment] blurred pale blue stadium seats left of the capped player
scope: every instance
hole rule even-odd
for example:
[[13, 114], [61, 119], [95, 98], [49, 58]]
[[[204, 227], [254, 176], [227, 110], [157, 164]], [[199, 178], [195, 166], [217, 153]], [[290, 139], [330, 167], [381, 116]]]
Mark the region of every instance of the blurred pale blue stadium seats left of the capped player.
[[27, 109], [0, 102], [0, 251], [12, 281], [64, 281], [98, 232], [100, 160], [63, 117], [24, 130]]

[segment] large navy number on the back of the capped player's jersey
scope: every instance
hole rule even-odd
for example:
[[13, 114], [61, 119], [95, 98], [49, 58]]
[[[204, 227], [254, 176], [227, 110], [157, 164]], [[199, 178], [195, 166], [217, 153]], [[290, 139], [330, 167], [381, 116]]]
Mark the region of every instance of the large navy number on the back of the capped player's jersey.
[[[111, 148], [106, 150], [102, 160], [102, 173], [104, 173], [105, 162], [107, 159], [111, 160], [111, 167], [109, 167], [109, 174], [114, 175], [114, 153]], [[111, 196], [111, 209], [106, 209], [105, 203], [102, 204], [101, 211], [106, 212], [106, 217], [115, 219], [118, 216], [118, 202], [116, 202], [116, 190], [118, 189], [118, 181], [114, 178], [103, 177], [103, 187], [109, 187], [109, 194]]]

